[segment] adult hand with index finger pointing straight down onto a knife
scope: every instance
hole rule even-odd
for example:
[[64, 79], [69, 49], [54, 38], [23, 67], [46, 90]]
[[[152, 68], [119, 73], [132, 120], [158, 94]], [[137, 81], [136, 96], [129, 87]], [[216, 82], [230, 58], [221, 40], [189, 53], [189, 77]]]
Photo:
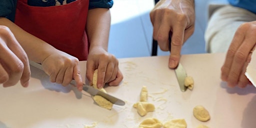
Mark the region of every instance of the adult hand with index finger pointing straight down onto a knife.
[[171, 36], [170, 68], [177, 66], [182, 44], [194, 31], [194, 15], [193, 0], [160, 0], [150, 12], [153, 38], [161, 50], [168, 50]]

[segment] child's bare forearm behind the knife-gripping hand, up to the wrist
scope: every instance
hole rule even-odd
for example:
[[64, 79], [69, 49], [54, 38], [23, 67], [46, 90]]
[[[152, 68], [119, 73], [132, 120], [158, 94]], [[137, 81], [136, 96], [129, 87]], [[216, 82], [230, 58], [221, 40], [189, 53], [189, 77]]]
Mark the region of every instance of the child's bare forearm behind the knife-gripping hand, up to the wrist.
[[56, 50], [53, 46], [24, 31], [7, 18], [0, 17], [0, 25], [9, 27], [17, 41], [25, 50], [28, 58], [32, 61], [42, 63], [42, 61], [50, 55], [51, 52]]

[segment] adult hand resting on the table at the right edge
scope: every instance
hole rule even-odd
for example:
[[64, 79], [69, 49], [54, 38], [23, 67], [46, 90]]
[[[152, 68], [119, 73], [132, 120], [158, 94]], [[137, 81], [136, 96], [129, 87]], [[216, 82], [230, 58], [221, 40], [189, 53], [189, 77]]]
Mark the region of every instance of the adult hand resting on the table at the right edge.
[[255, 34], [256, 21], [241, 24], [234, 34], [221, 67], [221, 79], [229, 87], [245, 87], [250, 83], [244, 73], [251, 58], [251, 50], [256, 44]]

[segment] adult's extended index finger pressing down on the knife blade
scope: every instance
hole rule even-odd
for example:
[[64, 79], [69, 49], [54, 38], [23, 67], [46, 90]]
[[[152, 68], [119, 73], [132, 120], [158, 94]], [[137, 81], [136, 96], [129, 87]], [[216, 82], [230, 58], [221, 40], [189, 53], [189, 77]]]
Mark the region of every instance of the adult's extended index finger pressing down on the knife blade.
[[180, 51], [184, 40], [185, 26], [174, 25], [171, 37], [169, 68], [175, 68], [179, 62]]

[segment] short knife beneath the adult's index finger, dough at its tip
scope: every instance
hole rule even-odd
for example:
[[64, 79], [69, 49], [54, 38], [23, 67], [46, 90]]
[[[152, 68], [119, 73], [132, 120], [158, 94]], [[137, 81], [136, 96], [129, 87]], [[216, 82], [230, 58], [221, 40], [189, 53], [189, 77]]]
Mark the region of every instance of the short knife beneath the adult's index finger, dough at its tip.
[[[169, 51], [171, 48], [171, 36], [169, 36]], [[186, 75], [186, 71], [183, 68], [183, 66], [181, 65], [181, 63], [178, 63], [177, 67], [174, 68], [177, 80], [178, 80], [178, 85], [181, 91], [186, 91], [187, 86], [185, 86], [185, 77]]]

